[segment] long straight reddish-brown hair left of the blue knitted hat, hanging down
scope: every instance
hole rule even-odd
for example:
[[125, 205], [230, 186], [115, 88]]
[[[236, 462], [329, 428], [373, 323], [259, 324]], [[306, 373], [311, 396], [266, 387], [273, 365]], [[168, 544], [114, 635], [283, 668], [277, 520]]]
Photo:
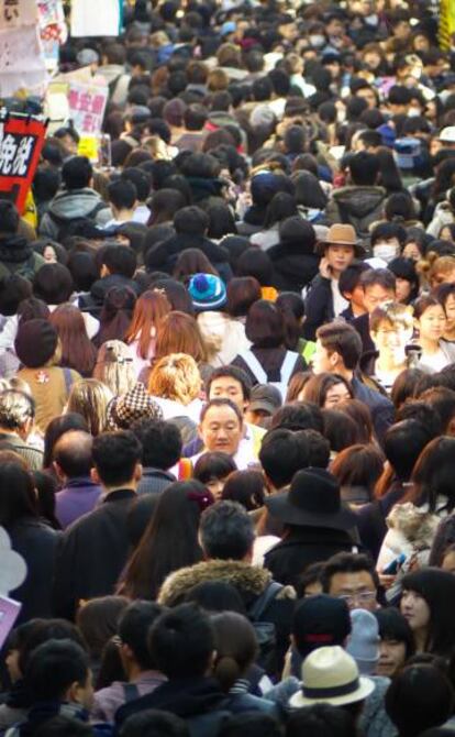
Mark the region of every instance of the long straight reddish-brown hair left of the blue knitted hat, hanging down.
[[156, 336], [159, 321], [170, 312], [170, 304], [163, 289], [144, 292], [137, 299], [131, 324], [125, 333], [125, 343], [138, 340], [137, 355], [147, 359], [151, 342]]

